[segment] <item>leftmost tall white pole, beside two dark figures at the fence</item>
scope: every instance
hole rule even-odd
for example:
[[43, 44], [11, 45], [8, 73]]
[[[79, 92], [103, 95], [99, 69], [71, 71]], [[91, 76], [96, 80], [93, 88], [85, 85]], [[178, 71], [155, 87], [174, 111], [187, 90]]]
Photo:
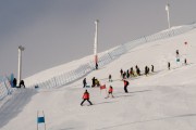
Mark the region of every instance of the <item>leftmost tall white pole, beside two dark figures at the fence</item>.
[[20, 84], [21, 81], [21, 75], [22, 75], [22, 51], [24, 51], [24, 47], [20, 46], [19, 47], [19, 72], [17, 72], [17, 86]]

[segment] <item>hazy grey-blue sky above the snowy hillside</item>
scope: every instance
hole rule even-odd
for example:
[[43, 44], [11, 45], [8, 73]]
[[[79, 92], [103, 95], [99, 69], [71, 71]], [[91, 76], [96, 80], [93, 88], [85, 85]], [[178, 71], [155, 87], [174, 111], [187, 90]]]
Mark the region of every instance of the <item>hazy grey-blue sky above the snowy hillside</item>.
[[[168, 28], [168, 0], [1, 0], [0, 76], [22, 78]], [[169, 1], [171, 26], [195, 22], [195, 0]]]

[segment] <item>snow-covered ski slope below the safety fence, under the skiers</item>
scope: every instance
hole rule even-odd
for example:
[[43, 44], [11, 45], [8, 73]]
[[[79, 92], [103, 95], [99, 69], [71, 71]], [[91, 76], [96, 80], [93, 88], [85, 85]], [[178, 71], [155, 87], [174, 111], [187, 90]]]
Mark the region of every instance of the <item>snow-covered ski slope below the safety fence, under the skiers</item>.
[[[181, 63], [175, 62], [176, 50]], [[79, 105], [85, 91], [83, 79], [60, 89], [22, 89], [0, 108], [0, 130], [37, 129], [37, 110], [45, 112], [47, 130], [195, 130], [195, 56], [196, 29], [132, 49], [86, 76], [88, 84], [96, 77], [114, 89], [114, 99], [105, 99], [105, 90], [88, 88], [93, 106], [87, 102]], [[184, 58], [187, 65], [183, 64]], [[85, 58], [74, 61], [73, 66], [83, 62]], [[120, 69], [135, 65], [142, 72], [146, 65], [154, 65], [155, 73], [130, 78], [130, 93], [124, 93]], [[109, 74], [113, 82], [108, 82]]]

